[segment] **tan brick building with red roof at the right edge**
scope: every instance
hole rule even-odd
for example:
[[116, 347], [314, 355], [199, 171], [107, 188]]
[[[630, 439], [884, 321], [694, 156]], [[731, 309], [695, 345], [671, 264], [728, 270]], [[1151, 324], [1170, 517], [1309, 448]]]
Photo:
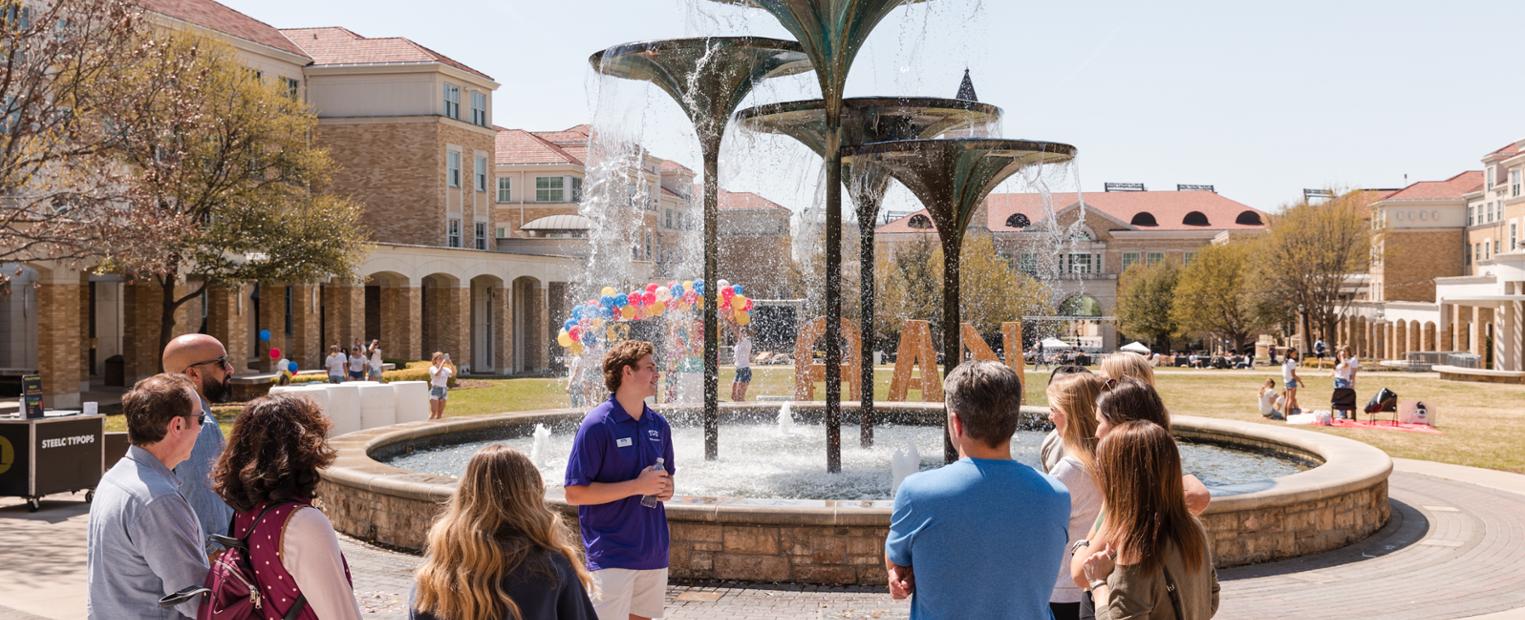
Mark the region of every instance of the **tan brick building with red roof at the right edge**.
[[[1371, 279], [1336, 340], [1383, 361], [1525, 372], [1525, 140], [1481, 171], [1414, 183], [1372, 203]], [[1456, 353], [1456, 355], [1452, 355]]]

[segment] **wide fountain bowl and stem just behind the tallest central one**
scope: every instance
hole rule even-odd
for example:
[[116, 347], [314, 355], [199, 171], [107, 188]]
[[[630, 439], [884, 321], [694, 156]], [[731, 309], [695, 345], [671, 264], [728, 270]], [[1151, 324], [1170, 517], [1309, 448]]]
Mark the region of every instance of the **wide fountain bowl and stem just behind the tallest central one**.
[[[965, 99], [935, 97], [852, 97], [842, 101], [842, 143], [852, 148], [869, 142], [913, 140], [941, 136], [978, 125], [993, 125], [1000, 108]], [[820, 99], [769, 104], [737, 113], [741, 126], [790, 136], [817, 155], [827, 155], [828, 129], [825, 102]], [[842, 163], [859, 221], [859, 360], [863, 360], [860, 385], [874, 385], [874, 227], [880, 200], [889, 186], [889, 171], [872, 161]], [[874, 390], [862, 390], [859, 440], [874, 443]]]

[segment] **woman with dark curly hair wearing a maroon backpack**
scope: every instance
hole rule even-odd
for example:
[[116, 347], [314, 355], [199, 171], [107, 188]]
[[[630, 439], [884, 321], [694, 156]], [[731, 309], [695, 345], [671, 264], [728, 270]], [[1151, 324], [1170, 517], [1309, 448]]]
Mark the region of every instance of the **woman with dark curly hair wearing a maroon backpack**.
[[317, 471], [334, 462], [326, 436], [311, 401], [265, 396], [244, 407], [212, 469], [212, 487], [236, 510], [227, 533], [249, 541], [273, 617], [360, 617], [334, 526], [313, 507]]

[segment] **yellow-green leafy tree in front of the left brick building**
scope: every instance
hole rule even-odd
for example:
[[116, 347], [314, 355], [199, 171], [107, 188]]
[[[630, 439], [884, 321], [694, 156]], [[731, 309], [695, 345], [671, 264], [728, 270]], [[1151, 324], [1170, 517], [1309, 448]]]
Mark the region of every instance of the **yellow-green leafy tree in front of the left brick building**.
[[[230, 47], [172, 34], [124, 72], [125, 222], [107, 265], [163, 286], [160, 344], [175, 308], [212, 283], [351, 276], [369, 233], [360, 206], [316, 193], [332, 161], [313, 146], [317, 117], [238, 64]], [[175, 283], [198, 283], [175, 296]]]

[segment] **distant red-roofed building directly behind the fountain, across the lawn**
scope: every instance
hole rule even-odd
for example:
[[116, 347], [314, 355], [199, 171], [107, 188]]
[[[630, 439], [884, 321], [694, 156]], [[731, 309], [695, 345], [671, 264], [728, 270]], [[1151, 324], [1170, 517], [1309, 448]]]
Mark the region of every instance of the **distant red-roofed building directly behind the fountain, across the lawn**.
[[[1080, 344], [1113, 350], [1118, 276], [1136, 262], [1190, 264], [1214, 242], [1260, 235], [1266, 213], [1209, 189], [1083, 193], [993, 193], [974, 213], [971, 233], [991, 235], [996, 253], [1064, 292], [1052, 321], [1084, 323]], [[936, 230], [918, 210], [877, 230], [877, 251]], [[1055, 244], [1061, 250], [1055, 251]]]

